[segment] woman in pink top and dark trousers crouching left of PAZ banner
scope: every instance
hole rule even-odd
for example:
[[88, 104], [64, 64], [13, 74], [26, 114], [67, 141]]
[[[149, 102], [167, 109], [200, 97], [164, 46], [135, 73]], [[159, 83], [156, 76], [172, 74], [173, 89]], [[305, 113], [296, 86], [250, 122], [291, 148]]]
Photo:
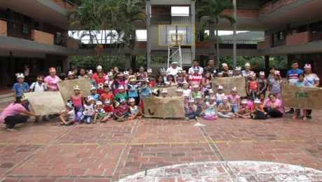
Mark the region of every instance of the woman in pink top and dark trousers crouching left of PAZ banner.
[[276, 95], [270, 93], [268, 99], [262, 104], [267, 117], [281, 118], [284, 113], [284, 107], [280, 99], [276, 99]]

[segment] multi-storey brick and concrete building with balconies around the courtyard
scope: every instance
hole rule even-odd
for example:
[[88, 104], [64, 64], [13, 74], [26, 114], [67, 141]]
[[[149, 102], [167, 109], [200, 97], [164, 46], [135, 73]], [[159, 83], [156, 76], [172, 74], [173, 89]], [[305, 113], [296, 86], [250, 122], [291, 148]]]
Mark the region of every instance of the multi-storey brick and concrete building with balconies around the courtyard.
[[[76, 3], [75, 1], [72, 1]], [[189, 13], [174, 15], [172, 6], [186, 6]], [[134, 22], [137, 29], [147, 30], [147, 41], [139, 41], [135, 53], [146, 55], [148, 66], [155, 64], [151, 57], [167, 55], [167, 47], [158, 45], [158, 25], [195, 25], [199, 27], [196, 12], [197, 0], [146, 0], [146, 25]], [[237, 55], [265, 56], [265, 68], [269, 67], [269, 55], [287, 55], [288, 62], [300, 61], [300, 66], [310, 63], [314, 72], [322, 78], [322, 16], [321, 0], [237, 0], [237, 30], [265, 31], [262, 41], [238, 40]], [[73, 8], [67, 0], [10, 0], [0, 1], [0, 85], [14, 82], [14, 73], [31, 66], [32, 76], [47, 73], [50, 66], [66, 72], [69, 55], [92, 55], [85, 46], [78, 48], [77, 41], [68, 37], [67, 10]], [[228, 10], [225, 13], [232, 14]], [[208, 29], [208, 27], [207, 27]], [[220, 30], [231, 30], [223, 20]], [[232, 55], [232, 40], [219, 45], [221, 55]], [[115, 49], [103, 50], [115, 54]], [[209, 41], [196, 39], [195, 46], [184, 46], [183, 66], [190, 66], [192, 59], [208, 59], [216, 53]], [[125, 65], [130, 66], [131, 51], [125, 50]], [[32, 71], [32, 69], [34, 71]]]

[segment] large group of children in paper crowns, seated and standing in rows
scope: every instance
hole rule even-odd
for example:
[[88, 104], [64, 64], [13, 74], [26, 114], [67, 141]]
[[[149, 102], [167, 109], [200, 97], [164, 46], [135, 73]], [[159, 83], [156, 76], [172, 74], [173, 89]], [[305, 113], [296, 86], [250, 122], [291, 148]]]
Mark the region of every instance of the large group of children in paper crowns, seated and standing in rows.
[[[97, 66], [97, 69], [102, 70], [102, 66]], [[248, 97], [241, 99], [235, 87], [232, 88], [231, 94], [225, 95], [224, 88], [219, 86], [215, 94], [211, 88], [213, 73], [207, 72], [202, 76], [198, 73], [197, 67], [193, 70], [195, 73], [188, 75], [186, 71], [180, 69], [176, 76], [173, 76], [167, 75], [165, 69], [160, 69], [156, 77], [153, 77], [151, 69], [144, 72], [143, 67], [138, 73], [133, 73], [132, 70], [115, 73], [111, 70], [107, 75], [102, 71], [92, 73], [91, 70], [80, 69], [79, 75], [76, 76], [77, 71], [69, 71], [65, 80], [90, 79], [92, 84], [89, 88], [90, 95], [83, 97], [80, 94], [80, 87], [76, 85], [73, 87], [73, 95], [66, 104], [66, 111], [55, 116], [59, 116], [62, 125], [70, 125], [76, 121], [90, 124], [104, 123], [111, 118], [117, 121], [141, 118], [144, 113], [142, 98], [158, 97], [159, 94], [167, 97], [166, 87], [176, 85], [178, 87], [176, 94], [185, 98], [186, 120], [197, 117], [206, 120], [215, 120], [218, 117], [256, 118], [259, 115], [258, 112], [264, 113], [260, 105], [264, 102], [266, 90], [269, 89], [276, 95], [280, 95], [281, 92], [279, 71], [271, 71], [268, 81], [265, 79], [264, 72], [260, 72], [259, 79], [256, 79], [252, 71], [245, 72], [248, 74], [246, 77]], [[227, 72], [228, 76], [244, 76], [240, 67], [237, 67], [235, 75], [232, 71]], [[223, 72], [217, 73], [218, 77], [223, 75], [225, 75]], [[43, 82], [44, 76], [37, 76], [37, 82], [31, 87], [24, 83], [22, 74], [17, 78], [18, 83], [13, 86], [15, 97], [20, 97], [23, 92], [47, 90]], [[151, 90], [151, 87], [158, 87], [158, 89]], [[43, 120], [47, 118], [43, 116]]]

